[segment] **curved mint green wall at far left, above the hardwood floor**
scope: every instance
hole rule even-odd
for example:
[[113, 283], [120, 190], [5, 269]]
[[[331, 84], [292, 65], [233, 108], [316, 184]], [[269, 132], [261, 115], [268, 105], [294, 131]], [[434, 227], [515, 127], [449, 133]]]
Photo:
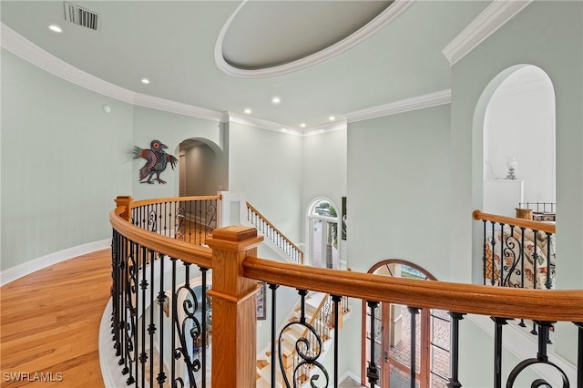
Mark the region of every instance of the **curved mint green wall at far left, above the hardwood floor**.
[[131, 192], [132, 119], [130, 105], [2, 50], [3, 271], [111, 236], [113, 199]]

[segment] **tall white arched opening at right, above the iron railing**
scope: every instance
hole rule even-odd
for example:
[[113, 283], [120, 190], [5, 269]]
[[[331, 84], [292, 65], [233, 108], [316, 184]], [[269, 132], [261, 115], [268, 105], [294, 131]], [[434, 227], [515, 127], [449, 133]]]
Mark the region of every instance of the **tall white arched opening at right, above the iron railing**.
[[516, 217], [515, 208], [528, 203], [554, 212], [555, 92], [547, 73], [537, 66], [513, 66], [496, 76], [480, 99], [486, 105], [483, 211]]

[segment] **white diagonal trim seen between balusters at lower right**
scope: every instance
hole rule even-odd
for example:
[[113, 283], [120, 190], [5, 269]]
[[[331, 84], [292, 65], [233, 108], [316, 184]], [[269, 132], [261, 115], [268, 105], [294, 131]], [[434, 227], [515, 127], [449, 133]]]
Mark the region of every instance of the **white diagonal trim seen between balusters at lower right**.
[[[467, 318], [476, 323], [480, 329], [494, 338], [494, 322], [486, 315], [468, 314]], [[514, 354], [518, 360], [527, 360], [533, 357], [537, 350], [537, 338], [530, 334], [526, 328], [517, 327], [512, 321], [508, 322], [504, 327], [504, 342], [503, 346], [508, 351]], [[551, 349], [547, 350], [548, 360], [557, 364], [568, 376], [569, 382], [577, 381], [577, 370], [575, 365], [565, 360], [563, 357], [553, 352]], [[558, 373], [549, 373], [549, 369], [541, 367], [539, 364], [530, 367], [540, 377], [551, 383], [552, 386], [563, 386], [562, 382], [557, 381]]]

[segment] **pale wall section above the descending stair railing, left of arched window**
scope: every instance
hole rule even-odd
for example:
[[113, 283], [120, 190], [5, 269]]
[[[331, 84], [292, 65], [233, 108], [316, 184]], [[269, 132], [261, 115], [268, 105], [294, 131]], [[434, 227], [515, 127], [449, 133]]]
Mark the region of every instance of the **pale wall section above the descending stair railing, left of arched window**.
[[302, 138], [230, 123], [230, 191], [292, 241], [302, 240]]

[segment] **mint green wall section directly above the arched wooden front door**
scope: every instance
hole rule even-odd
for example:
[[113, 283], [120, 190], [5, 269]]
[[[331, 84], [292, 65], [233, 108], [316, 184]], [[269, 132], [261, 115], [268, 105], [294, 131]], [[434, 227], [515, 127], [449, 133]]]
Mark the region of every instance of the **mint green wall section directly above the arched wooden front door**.
[[348, 265], [410, 260], [450, 280], [449, 105], [348, 125]]

